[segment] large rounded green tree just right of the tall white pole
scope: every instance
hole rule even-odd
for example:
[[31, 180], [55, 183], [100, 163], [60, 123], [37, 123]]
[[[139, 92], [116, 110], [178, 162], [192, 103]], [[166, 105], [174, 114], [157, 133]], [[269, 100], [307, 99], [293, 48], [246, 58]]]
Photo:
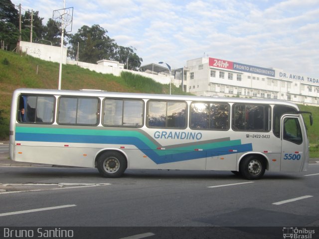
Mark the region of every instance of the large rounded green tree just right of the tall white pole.
[[69, 36], [71, 58], [76, 58], [79, 43], [79, 59], [81, 61], [95, 64], [102, 59], [114, 60], [117, 44], [106, 33], [107, 30], [99, 25], [82, 26], [77, 33]]

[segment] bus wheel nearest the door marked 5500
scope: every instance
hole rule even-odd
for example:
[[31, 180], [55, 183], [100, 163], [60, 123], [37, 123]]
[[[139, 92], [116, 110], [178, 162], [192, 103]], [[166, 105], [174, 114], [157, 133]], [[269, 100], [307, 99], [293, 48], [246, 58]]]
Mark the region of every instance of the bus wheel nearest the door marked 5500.
[[245, 157], [239, 167], [241, 175], [249, 180], [260, 179], [266, 170], [264, 160], [256, 155]]

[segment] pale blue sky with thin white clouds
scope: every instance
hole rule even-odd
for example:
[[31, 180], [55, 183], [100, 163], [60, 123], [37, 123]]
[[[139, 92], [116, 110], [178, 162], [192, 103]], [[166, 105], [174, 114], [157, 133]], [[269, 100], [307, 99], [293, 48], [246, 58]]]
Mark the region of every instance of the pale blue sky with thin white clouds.
[[[63, 0], [11, 0], [45, 25]], [[319, 0], [65, 0], [72, 34], [98, 24], [142, 65], [212, 57], [319, 78]]]

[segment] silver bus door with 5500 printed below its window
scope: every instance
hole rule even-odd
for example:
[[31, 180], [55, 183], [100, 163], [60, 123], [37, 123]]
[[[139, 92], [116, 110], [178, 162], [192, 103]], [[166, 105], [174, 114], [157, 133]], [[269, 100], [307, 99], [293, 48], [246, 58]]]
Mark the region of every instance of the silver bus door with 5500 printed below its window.
[[281, 171], [299, 172], [305, 158], [305, 133], [298, 116], [281, 119]]

